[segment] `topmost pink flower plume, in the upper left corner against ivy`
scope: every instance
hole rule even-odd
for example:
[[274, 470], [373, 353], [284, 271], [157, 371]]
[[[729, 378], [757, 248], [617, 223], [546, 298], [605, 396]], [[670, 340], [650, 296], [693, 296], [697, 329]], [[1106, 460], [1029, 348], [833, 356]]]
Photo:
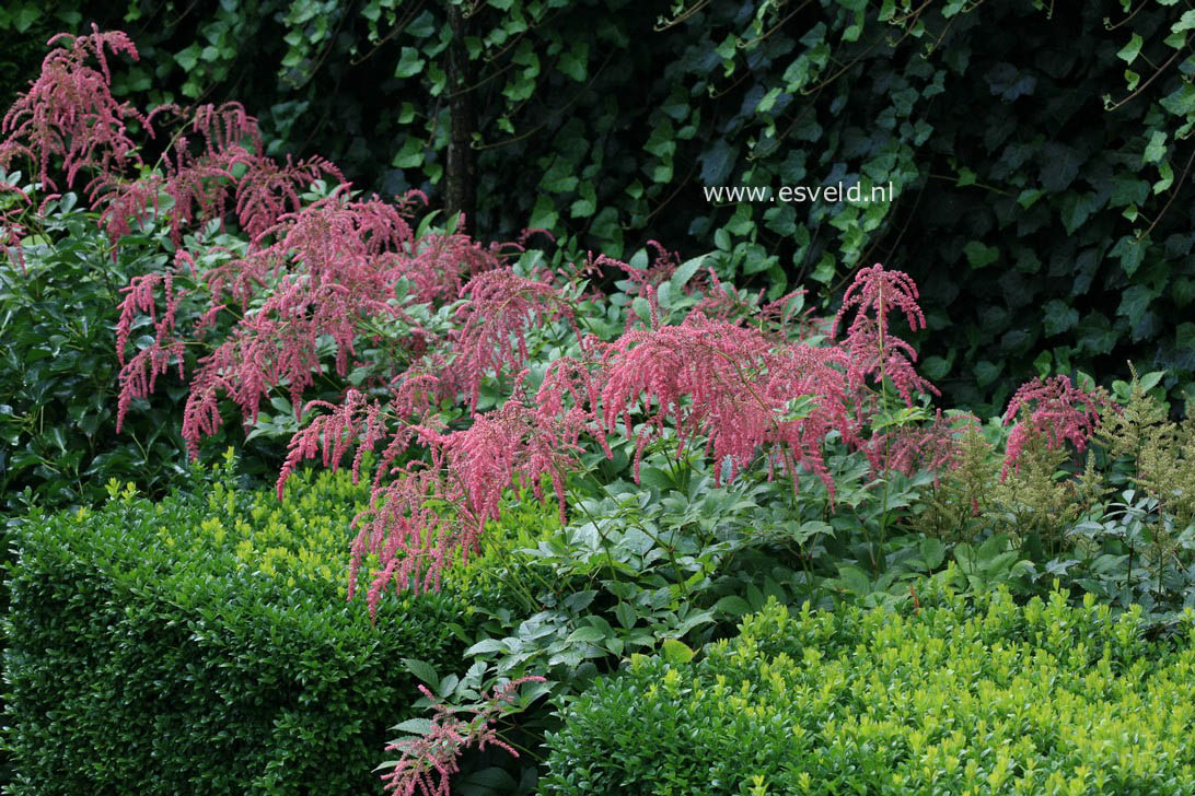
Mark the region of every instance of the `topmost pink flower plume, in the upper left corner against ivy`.
[[[90, 36], [60, 33], [48, 44], [68, 41], [42, 61], [42, 74], [27, 92], [8, 109], [0, 132], [0, 167], [11, 168], [18, 158], [30, 159], [42, 186], [57, 190], [51, 177], [51, 160], [60, 158], [67, 186], [82, 169], [103, 173], [124, 171], [141, 162], [136, 144], [129, 138], [125, 122], [145, 124], [145, 117], [128, 103], [117, 103], [111, 93], [106, 51], [137, 60], [137, 50], [120, 31]], [[90, 66], [97, 62], [98, 68]], [[148, 132], [152, 131], [146, 128]]]

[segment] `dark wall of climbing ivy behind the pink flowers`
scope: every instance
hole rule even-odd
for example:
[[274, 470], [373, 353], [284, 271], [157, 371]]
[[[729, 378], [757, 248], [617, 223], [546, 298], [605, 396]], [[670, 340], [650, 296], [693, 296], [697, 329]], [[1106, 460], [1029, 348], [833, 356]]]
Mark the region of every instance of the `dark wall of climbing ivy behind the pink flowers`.
[[[903, 269], [926, 292], [927, 376], [980, 411], [1035, 371], [1104, 377], [1128, 358], [1189, 391], [1195, 17], [1170, 0], [907, 5], [30, 1], [0, 12], [0, 75], [35, 74], [47, 31], [122, 27], [142, 60], [117, 93], [239, 99], [275, 152], [421, 187], [482, 239], [716, 249], [724, 274], [827, 302], [858, 265]], [[896, 196], [701, 190], [839, 180]]]

